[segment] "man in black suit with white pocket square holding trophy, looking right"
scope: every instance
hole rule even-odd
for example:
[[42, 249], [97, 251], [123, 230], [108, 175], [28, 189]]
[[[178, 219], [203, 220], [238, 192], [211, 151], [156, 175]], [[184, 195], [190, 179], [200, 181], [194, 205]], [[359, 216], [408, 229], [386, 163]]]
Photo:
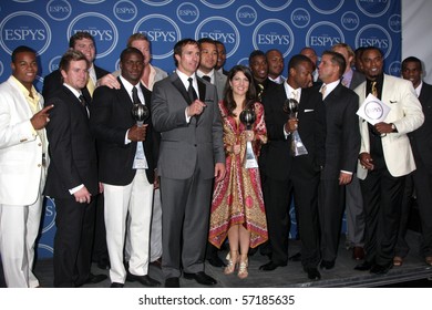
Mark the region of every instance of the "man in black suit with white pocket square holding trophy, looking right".
[[[261, 270], [274, 270], [288, 261], [289, 207], [291, 187], [300, 229], [301, 262], [308, 278], [320, 279], [318, 184], [325, 164], [326, 114], [320, 93], [308, 89], [313, 71], [312, 62], [298, 54], [288, 63], [288, 80], [269, 89], [264, 96], [268, 163], [265, 169], [266, 215], [272, 248], [271, 261]], [[299, 102], [297, 118], [284, 113], [287, 99]], [[298, 131], [308, 154], [291, 152], [292, 133]]]

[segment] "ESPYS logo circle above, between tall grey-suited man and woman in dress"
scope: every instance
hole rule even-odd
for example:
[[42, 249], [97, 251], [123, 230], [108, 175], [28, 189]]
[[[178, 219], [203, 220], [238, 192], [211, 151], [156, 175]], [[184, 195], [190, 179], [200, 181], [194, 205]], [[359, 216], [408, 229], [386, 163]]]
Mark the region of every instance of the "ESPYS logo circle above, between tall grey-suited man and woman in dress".
[[240, 44], [237, 27], [226, 18], [212, 17], [203, 20], [195, 31], [195, 39], [210, 38], [225, 44], [227, 58], [233, 55]]

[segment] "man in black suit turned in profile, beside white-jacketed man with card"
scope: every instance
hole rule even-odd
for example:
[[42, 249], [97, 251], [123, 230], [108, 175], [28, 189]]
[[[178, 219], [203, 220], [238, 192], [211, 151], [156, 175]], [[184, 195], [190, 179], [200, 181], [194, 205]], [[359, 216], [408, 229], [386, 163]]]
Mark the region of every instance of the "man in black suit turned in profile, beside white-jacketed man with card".
[[325, 51], [319, 64], [320, 89], [326, 105], [326, 164], [319, 188], [321, 269], [332, 269], [338, 255], [344, 209], [344, 186], [352, 179], [360, 149], [359, 97], [340, 83], [346, 69], [340, 53]]

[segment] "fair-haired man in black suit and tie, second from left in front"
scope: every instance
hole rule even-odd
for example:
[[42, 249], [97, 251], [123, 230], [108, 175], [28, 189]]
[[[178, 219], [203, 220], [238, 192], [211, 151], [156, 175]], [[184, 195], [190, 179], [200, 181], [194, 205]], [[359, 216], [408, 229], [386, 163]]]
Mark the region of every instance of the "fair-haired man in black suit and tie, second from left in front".
[[60, 61], [63, 85], [45, 103], [54, 105], [47, 126], [51, 164], [44, 189], [56, 205], [54, 287], [80, 287], [106, 279], [90, 272], [99, 186], [96, 147], [81, 92], [88, 69], [83, 53], [68, 51]]

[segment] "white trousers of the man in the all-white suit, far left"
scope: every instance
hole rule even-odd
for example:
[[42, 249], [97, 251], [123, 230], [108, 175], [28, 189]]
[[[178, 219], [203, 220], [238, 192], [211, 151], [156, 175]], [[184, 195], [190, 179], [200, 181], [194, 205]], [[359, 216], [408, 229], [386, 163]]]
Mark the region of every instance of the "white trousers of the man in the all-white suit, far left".
[[0, 204], [0, 254], [8, 288], [35, 288], [34, 246], [42, 216], [43, 197], [30, 206]]

